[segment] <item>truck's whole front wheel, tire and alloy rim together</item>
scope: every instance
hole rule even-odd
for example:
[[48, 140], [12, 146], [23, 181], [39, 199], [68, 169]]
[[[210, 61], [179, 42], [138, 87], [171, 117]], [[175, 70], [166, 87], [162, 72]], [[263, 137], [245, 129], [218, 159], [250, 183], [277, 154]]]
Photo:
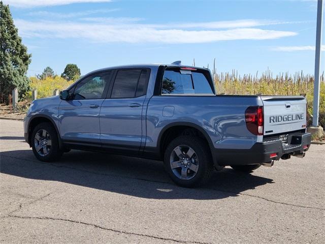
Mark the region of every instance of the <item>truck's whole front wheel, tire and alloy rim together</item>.
[[43, 162], [58, 160], [62, 155], [55, 129], [49, 123], [37, 125], [32, 132], [31, 147], [36, 158]]

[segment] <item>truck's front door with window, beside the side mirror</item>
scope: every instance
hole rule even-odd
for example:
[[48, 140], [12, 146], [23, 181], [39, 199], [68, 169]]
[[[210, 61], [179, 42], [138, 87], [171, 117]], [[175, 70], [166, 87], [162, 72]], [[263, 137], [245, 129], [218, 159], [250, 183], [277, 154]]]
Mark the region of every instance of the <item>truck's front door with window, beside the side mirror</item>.
[[65, 143], [98, 144], [100, 111], [111, 71], [89, 75], [70, 89], [71, 99], [59, 106], [59, 130]]

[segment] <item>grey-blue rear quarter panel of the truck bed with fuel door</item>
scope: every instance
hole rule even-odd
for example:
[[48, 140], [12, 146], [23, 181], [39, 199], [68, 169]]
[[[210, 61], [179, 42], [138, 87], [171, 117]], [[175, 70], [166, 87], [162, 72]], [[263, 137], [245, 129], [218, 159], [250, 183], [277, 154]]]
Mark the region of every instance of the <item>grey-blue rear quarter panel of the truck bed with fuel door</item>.
[[245, 110], [262, 105], [259, 97], [153, 96], [147, 108], [145, 145], [156, 147], [164, 128], [186, 122], [203, 128], [215, 148], [249, 149], [258, 137], [246, 128]]

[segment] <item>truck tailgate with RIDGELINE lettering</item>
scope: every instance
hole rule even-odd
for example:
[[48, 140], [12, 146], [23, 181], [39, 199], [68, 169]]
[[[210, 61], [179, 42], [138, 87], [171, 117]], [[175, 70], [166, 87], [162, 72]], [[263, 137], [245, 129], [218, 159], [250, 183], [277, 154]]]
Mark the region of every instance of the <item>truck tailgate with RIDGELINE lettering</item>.
[[306, 128], [304, 97], [261, 97], [264, 105], [264, 135]]

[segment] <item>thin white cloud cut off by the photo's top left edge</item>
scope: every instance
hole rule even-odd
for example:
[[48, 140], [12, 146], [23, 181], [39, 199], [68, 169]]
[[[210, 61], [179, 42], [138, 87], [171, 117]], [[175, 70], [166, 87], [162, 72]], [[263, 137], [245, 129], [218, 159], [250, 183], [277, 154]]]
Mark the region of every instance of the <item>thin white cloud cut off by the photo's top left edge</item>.
[[104, 3], [112, 0], [4, 0], [4, 4], [19, 8], [44, 7], [55, 5], [68, 5], [77, 3]]

